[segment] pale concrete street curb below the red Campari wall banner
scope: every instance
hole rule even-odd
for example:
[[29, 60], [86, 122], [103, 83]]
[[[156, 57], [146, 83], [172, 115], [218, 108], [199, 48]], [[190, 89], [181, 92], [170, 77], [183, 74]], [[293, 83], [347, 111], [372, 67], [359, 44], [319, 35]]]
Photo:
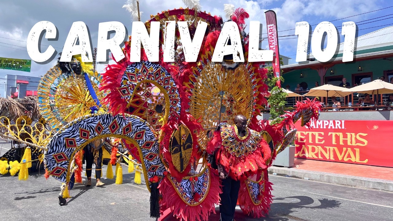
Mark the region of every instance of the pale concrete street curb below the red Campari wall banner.
[[269, 174], [275, 173], [275, 175], [277, 174], [282, 176], [291, 176], [294, 178], [309, 179], [309, 180], [329, 182], [334, 184], [393, 191], [392, 180], [356, 177], [351, 175], [311, 171], [311, 170], [304, 170], [304, 169], [282, 168], [277, 166], [269, 167], [268, 173]]

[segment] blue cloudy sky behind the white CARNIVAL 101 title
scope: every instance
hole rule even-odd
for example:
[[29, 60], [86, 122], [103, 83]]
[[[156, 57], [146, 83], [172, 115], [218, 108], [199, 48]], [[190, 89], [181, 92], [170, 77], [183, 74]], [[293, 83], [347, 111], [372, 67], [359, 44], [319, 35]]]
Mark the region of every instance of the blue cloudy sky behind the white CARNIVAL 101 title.
[[[132, 27], [131, 17], [122, 8], [125, 2], [126, 0], [7, 1], [6, 7], [0, 7], [0, 57], [29, 59], [26, 51], [26, 39], [30, 29], [39, 21], [50, 21], [59, 30], [59, 40], [47, 41], [43, 39], [41, 42], [42, 50], [46, 50], [47, 46], [51, 44], [57, 52], [61, 52], [70, 27], [76, 21], [83, 21], [88, 26], [93, 47], [97, 45], [98, 23], [100, 22], [119, 21], [126, 26], [130, 34]], [[221, 15], [222, 17], [224, 17], [224, 4], [244, 7], [250, 13], [248, 21], [259, 20], [264, 25], [263, 33], [266, 33], [264, 12], [274, 10], [277, 14], [279, 36], [294, 35], [295, 24], [301, 21], [307, 21], [310, 25], [316, 25], [323, 21], [332, 21], [336, 27], [341, 26], [342, 22], [353, 21], [359, 24], [359, 36], [391, 26], [393, 23], [393, 18], [389, 16], [382, 17], [392, 14], [391, 9], [393, 7], [367, 13], [393, 6], [390, 0], [201, 0], [200, 3], [202, 11], [210, 12], [212, 15]], [[141, 20], [146, 21], [151, 14], [156, 15], [163, 10], [178, 7], [185, 7], [182, 0], [140, 0], [140, 10], [143, 11]], [[365, 14], [359, 15], [362, 13]], [[358, 16], [350, 17], [353, 15]], [[370, 23], [363, 24], [366, 22]], [[315, 26], [312, 27], [315, 28]], [[266, 35], [263, 35], [263, 37], [266, 37]], [[280, 37], [280, 39], [280, 53], [295, 58], [296, 36]], [[266, 45], [265, 41], [263, 47], [266, 48]], [[2, 92], [1, 86], [4, 84], [2, 78], [6, 74], [41, 76], [55, 62], [56, 60], [49, 64], [32, 62], [31, 73], [0, 69], [0, 92]], [[104, 65], [99, 65], [97, 69], [103, 70], [103, 68]]]

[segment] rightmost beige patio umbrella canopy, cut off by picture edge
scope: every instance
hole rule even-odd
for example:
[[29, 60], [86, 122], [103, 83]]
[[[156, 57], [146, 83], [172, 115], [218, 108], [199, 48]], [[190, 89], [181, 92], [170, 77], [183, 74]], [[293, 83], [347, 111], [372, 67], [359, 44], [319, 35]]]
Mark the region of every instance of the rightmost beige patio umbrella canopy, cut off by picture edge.
[[390, 94], [393, 93], [393, 84], [381, 81], [379, 79], [359, 85], [353, 88], [345, 88], [346, 92], [357, 92], [362, 94]]

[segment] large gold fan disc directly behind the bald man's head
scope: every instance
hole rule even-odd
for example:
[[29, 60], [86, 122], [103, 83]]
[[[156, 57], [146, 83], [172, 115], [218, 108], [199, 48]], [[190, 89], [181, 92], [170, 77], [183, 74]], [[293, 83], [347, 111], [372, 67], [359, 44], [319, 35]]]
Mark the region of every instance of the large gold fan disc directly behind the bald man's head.
[[[190, 113], [202, 119], [204, 129], [214, 130], [218, 123], [233, 123], [237, 114], [247, 119], [252, 116], [252, 83], [244, 65], [230, 70], [221, 64], [208, 63], [196, 78], [191, 92]], [[199, 138], [199, 144], [205, 148], [206, 131], [201, 132]]]

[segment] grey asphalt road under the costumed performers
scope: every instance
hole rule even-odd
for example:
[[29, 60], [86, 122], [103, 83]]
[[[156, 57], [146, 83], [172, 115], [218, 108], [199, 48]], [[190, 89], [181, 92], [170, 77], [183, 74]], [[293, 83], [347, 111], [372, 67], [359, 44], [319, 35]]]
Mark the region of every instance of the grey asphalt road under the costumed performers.
[[[105, 169], [106, 166], [104, 174]], [[134, 174], [123, 171], [121, 185], [108, 179], [103, 179], [102, 187], [76, 184], [66, 206], [58, 204], [61, 183], [52, 177], [45, 180], [44, 171], [30, 174], [27, 181], [0, 175], [0, 221], [154, 220], [149, 217], [149, 192], [144, 182], [135, 184]], [[253, 219], [239, 209], [235, 214], [237, 221], [393, 221], [392, 192], [274, 175], [270, 175], [270, 180], [275, 197], [268, 217]], [[94, 185], [95, 180], [92, 181]], [[219, 213], [218, 207], [216, 212]], [[217, 214], [211, 215], [209, 221], [218, 221]]]

